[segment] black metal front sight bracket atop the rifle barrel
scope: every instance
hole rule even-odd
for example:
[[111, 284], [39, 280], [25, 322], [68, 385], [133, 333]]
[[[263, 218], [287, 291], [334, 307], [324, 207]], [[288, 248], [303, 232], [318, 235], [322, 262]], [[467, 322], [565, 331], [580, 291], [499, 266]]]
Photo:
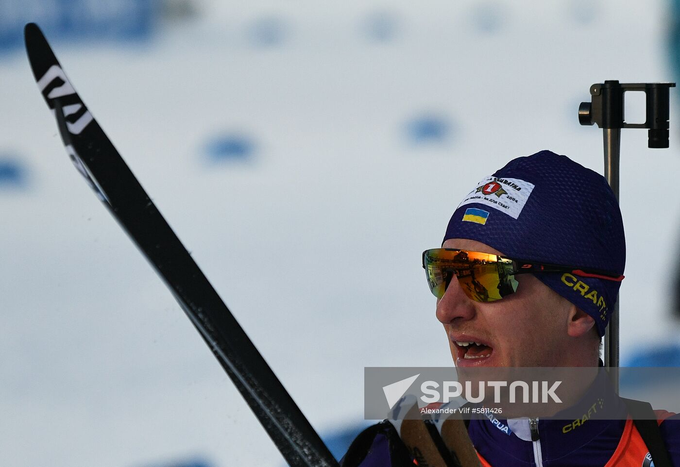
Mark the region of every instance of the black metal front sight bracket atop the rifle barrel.
[[[581, 125], [597, 124], [600, 128], [648, 128], [649, 148], [668, 148], [668, 90], [675, 83], [619, 83], [605, 81], [590, 86], [592, 102], [581, 102]], [[626, 123], [624, 94], [643, 91], [647, 101], [645, 123]]]

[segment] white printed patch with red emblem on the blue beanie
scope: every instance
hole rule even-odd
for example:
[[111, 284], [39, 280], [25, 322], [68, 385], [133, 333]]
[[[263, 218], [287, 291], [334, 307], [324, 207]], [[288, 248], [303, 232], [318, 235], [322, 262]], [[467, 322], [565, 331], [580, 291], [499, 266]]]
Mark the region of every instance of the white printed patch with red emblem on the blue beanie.
[[517, 219], [524, 209], [534, 184], [517, 178], [486, 177], [458, 205], [479, 203], [503, 211]]

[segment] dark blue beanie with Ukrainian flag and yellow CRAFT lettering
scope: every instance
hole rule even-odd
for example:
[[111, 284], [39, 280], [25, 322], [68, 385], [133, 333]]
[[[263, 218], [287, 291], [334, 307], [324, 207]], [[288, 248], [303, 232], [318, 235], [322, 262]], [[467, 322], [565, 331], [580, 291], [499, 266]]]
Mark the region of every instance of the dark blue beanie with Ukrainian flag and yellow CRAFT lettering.
[[[605, 177], [550, 151], [513, 159], [479, 181], [449, 221], [444, 241], [455, 238], [480, 241], [511, 258], [617, 275], [626, 264], [621, 211]], [[592, 316], [605, 334], [620, 281], [569, 273], [536, 277]]]

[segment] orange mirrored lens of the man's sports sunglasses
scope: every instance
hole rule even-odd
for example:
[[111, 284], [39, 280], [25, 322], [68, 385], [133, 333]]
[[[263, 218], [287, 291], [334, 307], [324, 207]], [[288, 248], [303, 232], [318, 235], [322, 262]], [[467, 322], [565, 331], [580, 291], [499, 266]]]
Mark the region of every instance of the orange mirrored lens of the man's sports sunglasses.
[[437, 298], [444, 296], [454, 276], [466, 296], [475, 302], [493, 302], [517, 290], [512, 260], [494, 254], [428, 249], [423, 252], [423, 267], [430, 291]]

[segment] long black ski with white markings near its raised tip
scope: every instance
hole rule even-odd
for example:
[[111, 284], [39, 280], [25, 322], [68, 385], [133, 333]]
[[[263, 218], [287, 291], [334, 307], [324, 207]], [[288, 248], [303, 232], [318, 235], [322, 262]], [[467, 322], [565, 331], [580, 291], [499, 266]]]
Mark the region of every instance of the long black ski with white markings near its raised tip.
[[75, 167], [163, 278], [288, 464], [337, 466], [75, 92], [40, 29], [27, 24], [24, 35], [33, 75]]

